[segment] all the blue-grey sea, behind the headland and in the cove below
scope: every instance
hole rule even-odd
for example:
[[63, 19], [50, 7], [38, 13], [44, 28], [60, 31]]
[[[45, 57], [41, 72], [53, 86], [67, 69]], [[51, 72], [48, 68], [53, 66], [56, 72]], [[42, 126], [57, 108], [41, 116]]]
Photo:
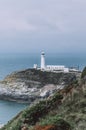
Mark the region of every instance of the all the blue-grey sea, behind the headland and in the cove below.
[[[85, 54], [71, 53], [46, 53], [47, 65], [65, 65], [66, 67], [83, 70], [86, 66]], [[37, 64], [40, 67], [40, 53], [0, 54], [0, 80], [14, 71], [33, 68]], [[0, 125], [6, 124], [29, 104], [0, 100]]]

